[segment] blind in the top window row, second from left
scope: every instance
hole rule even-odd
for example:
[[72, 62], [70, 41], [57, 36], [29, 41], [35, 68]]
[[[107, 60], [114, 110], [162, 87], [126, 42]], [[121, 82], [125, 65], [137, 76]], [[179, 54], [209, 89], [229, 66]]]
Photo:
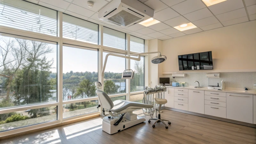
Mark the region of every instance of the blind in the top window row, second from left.
[[98, 44], [98, 25], [63, 14], [63, 37]]

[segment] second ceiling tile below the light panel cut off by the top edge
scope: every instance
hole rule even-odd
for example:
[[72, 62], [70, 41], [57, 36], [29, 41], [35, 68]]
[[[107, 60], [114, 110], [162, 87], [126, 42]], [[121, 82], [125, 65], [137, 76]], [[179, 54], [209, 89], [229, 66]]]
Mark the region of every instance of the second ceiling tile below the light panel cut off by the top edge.
[[244, 16], [247, 16], [244, 8], [216, 15], [217, 19], [219, 19], [221, 22], [241, 18]]

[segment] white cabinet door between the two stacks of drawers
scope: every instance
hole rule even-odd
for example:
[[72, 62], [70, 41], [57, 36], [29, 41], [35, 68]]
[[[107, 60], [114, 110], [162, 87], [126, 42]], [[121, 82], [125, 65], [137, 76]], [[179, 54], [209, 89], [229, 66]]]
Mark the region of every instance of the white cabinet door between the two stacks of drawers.
[[204, 114], [204, 91], [188, 90], [188, 111]]

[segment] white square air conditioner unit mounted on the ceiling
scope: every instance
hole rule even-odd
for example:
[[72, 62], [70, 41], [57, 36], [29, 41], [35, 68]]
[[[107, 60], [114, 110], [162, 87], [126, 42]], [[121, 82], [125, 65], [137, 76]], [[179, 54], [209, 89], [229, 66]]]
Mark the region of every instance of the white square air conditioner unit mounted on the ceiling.
[[154, 10], [138, 0], [112, 0], [98, 12], [98, 18], [128, 28], [154, 16]]

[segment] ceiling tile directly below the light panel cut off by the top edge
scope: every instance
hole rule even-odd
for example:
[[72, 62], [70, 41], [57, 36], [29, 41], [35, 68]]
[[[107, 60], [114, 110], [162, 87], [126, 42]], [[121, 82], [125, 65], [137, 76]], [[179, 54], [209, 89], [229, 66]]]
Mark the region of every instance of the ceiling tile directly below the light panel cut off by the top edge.
[[219, 4], [214, 4], [208, 8], [212, 11], [213, 14], [218, 15], [224, 12], [234, 11], [244, 7], [242, 0], [228, 0]]

